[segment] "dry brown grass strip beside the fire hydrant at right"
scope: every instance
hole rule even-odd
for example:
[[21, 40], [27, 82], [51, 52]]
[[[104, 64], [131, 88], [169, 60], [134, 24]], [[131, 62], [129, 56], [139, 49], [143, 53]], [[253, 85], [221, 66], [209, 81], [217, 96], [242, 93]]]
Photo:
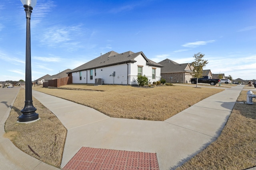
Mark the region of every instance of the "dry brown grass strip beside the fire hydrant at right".
[[[246, 102], [242, 91], [239, 102]], [[256, 166], [256, 102], [236, 103], [220, 137], [177, 170], [243, 170]]]

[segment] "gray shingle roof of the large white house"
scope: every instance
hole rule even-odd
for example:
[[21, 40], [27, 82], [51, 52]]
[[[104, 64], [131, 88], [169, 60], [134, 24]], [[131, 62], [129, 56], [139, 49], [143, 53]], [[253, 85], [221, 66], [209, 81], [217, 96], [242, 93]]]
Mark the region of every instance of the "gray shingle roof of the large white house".
[[77, 72], [82, 70], [90, 70], [94, 68], [101, 68], [101, 67], [112, 66], [112, 65], [123, 64], [123, 63], [135, 63], [136, 61], [134, 59], [140, 54], [146, 60], [147, 65], [162, 67], [161, 64], [158, 64], [154, 61], [147, 59], [147, 57], [144, 55], [144, 53], [142, 53], [142, 51], [138, 53], [127, 51], [125, 53], [120, 53], [120, 54], [116, 53], [115, 51], [110, 51], [104, 55], [101, 55], [100, 57], [97, 57], [96, 59], [93, 59], [85, 64], [82, 64], [81, 66], [78, 66], [77, 68], [74, 68], [73, 70], [67, 73]]

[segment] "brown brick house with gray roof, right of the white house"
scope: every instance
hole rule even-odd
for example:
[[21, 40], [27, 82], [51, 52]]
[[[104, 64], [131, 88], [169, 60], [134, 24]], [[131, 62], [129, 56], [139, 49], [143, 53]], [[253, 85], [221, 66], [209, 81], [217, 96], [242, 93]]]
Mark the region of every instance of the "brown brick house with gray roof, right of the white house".
[[189, 63], [179, 64], [170, 59], [159, 62], [161, 68], [161, 77], [169, 83], [188, 83], [192, 78], [192, 68]]

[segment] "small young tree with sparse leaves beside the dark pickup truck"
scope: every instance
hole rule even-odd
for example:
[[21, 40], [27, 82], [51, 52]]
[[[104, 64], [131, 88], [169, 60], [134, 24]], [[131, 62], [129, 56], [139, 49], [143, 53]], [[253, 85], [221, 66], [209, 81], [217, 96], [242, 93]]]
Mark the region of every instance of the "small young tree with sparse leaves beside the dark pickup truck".
[[196, 87], [198, 83], [198, 78], [202, 77], [203, 74], [203, 68], [208, 64], [207, 60], [203, 60], [204, 54], [202, 53], [197, 53], [194, 54], [194, 61], [192, 62], [192, 66], [194, 67], [193, 69], [193, 74], [196, 79]]

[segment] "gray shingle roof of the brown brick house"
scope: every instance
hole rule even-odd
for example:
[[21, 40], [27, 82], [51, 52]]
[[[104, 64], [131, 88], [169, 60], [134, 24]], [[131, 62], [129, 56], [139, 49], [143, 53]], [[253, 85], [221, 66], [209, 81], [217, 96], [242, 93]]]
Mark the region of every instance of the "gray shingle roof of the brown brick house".
[[161, 68], [161, 73], [192, 72], [189, 63], [179, 64], [170, 59], [165, 59], [160, 61], [159, 64], [164, 66]]

